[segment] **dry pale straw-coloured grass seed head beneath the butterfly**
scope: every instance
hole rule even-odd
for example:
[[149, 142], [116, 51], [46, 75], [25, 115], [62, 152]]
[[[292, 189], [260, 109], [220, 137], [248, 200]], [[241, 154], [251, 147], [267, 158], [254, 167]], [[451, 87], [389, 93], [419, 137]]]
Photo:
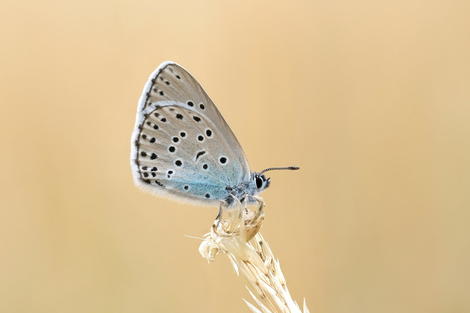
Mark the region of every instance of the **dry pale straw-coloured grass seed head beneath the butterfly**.
[[[264, 219], [263, 198], [251, 197], [258, 201], [258, 208], [247, 213], [244, 205], [234, 197], [239, 210], [230, 211], [228, 219], [220, 223], [214, 222], [211, 232], [204, 235], [199, 252], [208, 261], [214, 261], [215, 256], [223, 252], [230, 259], [235, 273], [243, 273], [251, 297], [261, 308], [260, 311], [243, 299], [252, 312], [302, 313], [297, 302], [290, 297], [279, 260], [274, 258], [269, 245], [258, 232]], [[305, 298], [303, 313], [309, 313]]]

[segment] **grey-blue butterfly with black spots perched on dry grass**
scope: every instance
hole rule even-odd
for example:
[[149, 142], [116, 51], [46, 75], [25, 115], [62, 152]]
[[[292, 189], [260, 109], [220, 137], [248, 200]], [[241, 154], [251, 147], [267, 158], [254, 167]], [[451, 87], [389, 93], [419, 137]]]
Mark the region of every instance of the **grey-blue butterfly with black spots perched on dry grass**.
[[251, 172], [245, 153], [204, 88], [174, 62], [158, 66], [139, 99], [131, 140], [131, 167], [138, 188], [184, 203], [220, 205], [234, 196], [255, 202], [269, 187], [272, 167]]

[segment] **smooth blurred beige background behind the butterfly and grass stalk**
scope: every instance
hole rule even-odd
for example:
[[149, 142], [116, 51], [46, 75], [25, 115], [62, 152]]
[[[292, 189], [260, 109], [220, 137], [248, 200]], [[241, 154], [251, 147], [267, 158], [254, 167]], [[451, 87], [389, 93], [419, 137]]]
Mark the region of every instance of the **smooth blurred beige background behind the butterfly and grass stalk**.
[[469, 1], [3, 1], [0, 311], [249, 312], [217, 208], [139, 192], [137, 101], [172, 60], [251, 169], [310, 312], [470, 312]]

